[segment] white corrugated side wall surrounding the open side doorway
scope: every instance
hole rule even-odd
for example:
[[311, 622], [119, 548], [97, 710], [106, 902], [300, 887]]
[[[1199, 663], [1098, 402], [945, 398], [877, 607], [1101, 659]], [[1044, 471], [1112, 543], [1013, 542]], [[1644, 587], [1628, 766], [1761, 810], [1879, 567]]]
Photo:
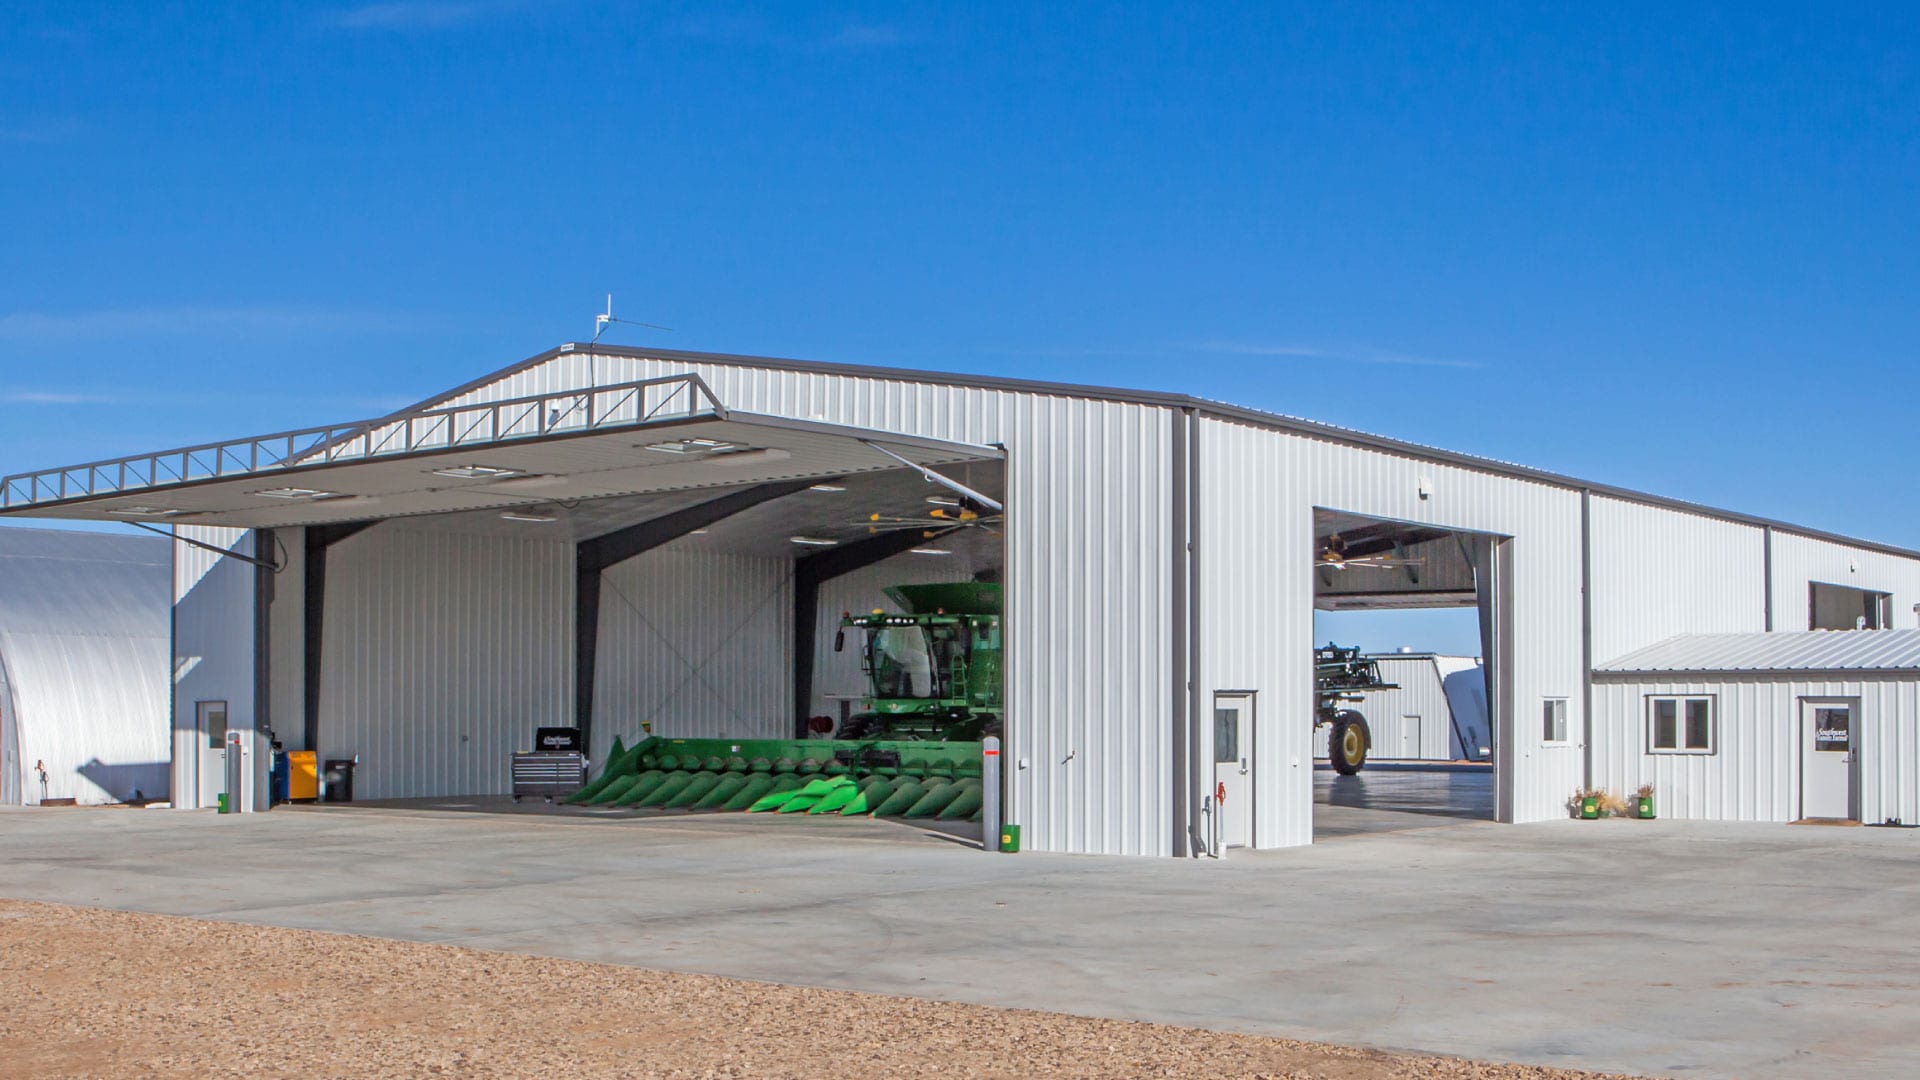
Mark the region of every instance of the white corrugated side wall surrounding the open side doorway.
[[[1200, 425], [1202, 655], [1208, 690], [1261, 692], [1256, 846], [1311, 838], [1313, 507], [1515, 536], [1515, 713], [1569, 700], [1584, 728], [1580, 496], [1377, 450], [1227, 421]], [[1419, 480], [1432, 498], [1419, 498]], [[1540, 724], [1501, 732], [1513, 753], [1511, 817], [1540, 821], [1582, 780], [1578, 744], [1542, 746]]]

